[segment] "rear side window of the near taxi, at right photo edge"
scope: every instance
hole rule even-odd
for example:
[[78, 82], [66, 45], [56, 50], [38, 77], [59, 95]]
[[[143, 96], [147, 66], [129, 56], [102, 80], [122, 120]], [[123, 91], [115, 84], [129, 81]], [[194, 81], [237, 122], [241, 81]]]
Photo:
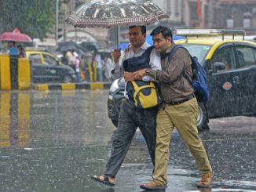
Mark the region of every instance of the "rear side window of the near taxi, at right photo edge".
[[236, 53], [238, 58], [238, 67], [247, 67], [256, 64], [256, 49], [245, 45], [238, 45], [236, 47]]

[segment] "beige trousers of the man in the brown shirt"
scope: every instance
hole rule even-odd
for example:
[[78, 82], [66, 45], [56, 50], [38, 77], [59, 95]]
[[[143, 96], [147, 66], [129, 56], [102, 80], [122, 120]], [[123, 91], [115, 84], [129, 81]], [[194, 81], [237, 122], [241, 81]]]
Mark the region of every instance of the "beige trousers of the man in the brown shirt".
[[196, 118], [198, 103], [196, 98], [177, 105], [165, 104], [156, 118], [155, 170], [153, 179], [163, 185], [167, 183], [167, 164], [170, 157], [170, 140], [174, 127], [179, 132], [188, 150], [196, 160], [201, 174], [211, 172], [206, 150], [198, 136]]

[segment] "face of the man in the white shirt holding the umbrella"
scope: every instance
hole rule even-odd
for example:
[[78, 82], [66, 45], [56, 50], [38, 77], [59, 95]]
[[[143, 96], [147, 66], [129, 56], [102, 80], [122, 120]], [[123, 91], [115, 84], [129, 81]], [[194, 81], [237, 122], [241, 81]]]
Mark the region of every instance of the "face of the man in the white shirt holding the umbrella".
[[141, 45], [144, 44], [146, 38], [146, 34], [141, 33], [141, 27], [136, 26], [129, 29], [129, 40], [130, 44], [135, 47], [139, 48]]

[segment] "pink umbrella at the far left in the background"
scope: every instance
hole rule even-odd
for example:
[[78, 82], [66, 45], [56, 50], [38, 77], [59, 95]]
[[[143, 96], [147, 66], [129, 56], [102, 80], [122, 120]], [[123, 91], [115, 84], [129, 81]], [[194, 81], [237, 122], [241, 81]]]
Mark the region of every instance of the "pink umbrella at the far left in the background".
[[18, 28], [15, 28], [13, 32], [4, 32], [0, 34], [0, 40], [12, 42], [32, 42], [32, 39], [27, 34], [20, 33]]

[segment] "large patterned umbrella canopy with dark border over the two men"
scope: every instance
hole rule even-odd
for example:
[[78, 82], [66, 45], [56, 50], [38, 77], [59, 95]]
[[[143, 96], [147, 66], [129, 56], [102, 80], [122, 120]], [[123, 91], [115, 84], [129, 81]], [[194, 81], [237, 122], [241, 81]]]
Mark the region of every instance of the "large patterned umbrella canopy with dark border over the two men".
[[148, 25], [166, 13], [147, 0], [94, 0], [79, 6], [68, 16], [74, 27], [114, 27], [118, 25]]

